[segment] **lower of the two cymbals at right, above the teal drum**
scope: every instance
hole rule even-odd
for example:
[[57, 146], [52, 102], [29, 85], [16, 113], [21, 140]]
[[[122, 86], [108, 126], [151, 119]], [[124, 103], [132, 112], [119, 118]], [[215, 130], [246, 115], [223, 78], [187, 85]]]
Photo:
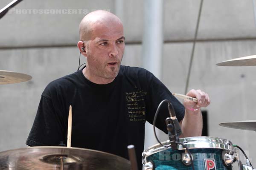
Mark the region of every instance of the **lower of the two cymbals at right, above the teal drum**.
[[256, 120], [238, 121], [238, 122], [225, 122], [220, 123], [220, 126], [230, 127], [234, 129], [242, 130], [254, 130], [256, 131]]

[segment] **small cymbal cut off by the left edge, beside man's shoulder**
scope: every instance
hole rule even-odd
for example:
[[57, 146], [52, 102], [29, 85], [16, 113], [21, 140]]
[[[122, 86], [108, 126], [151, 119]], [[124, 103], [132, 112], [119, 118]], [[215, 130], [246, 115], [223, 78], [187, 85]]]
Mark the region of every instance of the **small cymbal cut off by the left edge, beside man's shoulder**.
[[32, 77], [27, 74], [0, 70], [0, 85], [12, 84], [17, 82], [26, 82], [30, 79], [32, 79]]

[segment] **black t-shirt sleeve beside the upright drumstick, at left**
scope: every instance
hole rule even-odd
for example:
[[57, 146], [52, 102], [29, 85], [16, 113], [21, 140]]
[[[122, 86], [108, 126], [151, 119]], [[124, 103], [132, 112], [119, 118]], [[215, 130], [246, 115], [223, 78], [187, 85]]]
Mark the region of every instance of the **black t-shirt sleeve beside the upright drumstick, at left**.
[[56, 146], [64, 141], [63, 118], [55, 111], [52, 99], [42, 95], [35, 121], [26, 140], [29, 146]]

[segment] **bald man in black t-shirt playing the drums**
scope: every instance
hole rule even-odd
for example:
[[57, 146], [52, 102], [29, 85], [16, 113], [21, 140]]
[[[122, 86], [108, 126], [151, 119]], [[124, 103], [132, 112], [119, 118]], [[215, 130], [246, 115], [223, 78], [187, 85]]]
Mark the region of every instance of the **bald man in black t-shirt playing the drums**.
[[[79, 31], [77, 46], [87, 64], [47, 85], [27, 145], [67, 144], [68, 113], [72, 105], [72, 147], [101, 150], [128, 159], [127, 146], [134, 144], [141, 169], [145, 121], [153, 123], [157, 106], [164, 99], [175, 108], [182, 137], [201, 136], [200, 108], [209, 105], [208, 94], [191, 90], [186, 95], [197, 98], [198, 103], [184, 100], [182, 105], [149, 71], [120, 65], [125, 50], [123, 25], [108, 11], [87, 14]], [[156, 122], [165, 133], [168, 116], [164, 106]]]

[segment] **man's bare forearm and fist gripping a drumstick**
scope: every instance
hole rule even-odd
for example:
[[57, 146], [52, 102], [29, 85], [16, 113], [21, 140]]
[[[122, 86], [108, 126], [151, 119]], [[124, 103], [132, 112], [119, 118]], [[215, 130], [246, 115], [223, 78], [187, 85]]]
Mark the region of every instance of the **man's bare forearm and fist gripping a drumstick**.
[[201, 107], [207, 107], [210, 104], [210, 99], [207, 93], [201, 90], [192, 89], [187, 96], [195, 97], [198, 103], [190, 100], [184, 100], [185, 116], [180, 121], [182, 135], [180, 137], [201, 136], [203, 129], [203, 119]]

